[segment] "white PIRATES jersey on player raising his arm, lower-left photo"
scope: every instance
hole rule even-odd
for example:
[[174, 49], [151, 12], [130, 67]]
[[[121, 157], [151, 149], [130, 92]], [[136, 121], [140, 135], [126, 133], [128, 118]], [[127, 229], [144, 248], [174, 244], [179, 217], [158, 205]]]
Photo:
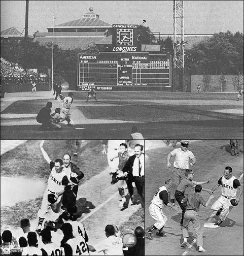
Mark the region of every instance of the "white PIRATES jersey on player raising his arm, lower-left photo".
[[[50, 168], [54, 166], [54, 163], [50, 163]], [[48, 178], [47, 189], [52, 192], [58, 193], [60, 192], [65, 185], [65, 181], [67, 181], [66, 173], [62, 170], [60, 173], [57, 173], [55, 167], [52, 168], [52, 171]]]

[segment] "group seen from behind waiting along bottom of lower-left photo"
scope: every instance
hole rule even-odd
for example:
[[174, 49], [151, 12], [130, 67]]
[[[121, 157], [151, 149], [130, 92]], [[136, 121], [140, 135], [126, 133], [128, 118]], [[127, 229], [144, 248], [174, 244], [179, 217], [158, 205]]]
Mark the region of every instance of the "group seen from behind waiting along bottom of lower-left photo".
[[[115, 225], [107, 225], [103, 240], [96, 245], [90, 245], [83, 224], [69, 218], [65, 213], [59, 216], [57, 222], [46, 221], [40, 233], [31, 231], [27, 218], [21, 219], [20, 229], [21, 235], [17, 239], [10, 230], [3, 231], [0, 236], [1, 255], [90, 255], [90, 252], [95, 251], [102, 251], [104, 255], [145, 254], [142, 227], [135, 228], [135, 245], [129, 248], [123, 246], [121, 233]], [[54, 238], [56, 232], [58, 239], [57, 236]]]

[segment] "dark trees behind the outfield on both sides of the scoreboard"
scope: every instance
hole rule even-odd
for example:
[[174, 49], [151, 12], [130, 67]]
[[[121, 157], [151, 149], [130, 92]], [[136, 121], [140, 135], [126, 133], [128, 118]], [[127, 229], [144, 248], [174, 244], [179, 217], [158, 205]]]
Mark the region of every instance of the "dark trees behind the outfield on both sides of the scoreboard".
[[[173, 56], [171, 38], [156, 40], [149, 27], [138, 26], [141, 44], [160, 44], [161, 51]], [[98, 53], [94, 45], [86, 51], [80, 48], [65, 50], [54, 45], [54, 72], [70, 85], [77, 83], [77, 54]], [[159, 52], [159, 53], [162, 53]], [[191, 68], [192, 75], [242, 75], [243, 74], [243, 34], [230, 31], [216, 33], [185, 51], [185, 67]], [[24, 44], [12, 44], [1, 47], [1, 56], [8, 61], [24, 66]], [[26, 69], [38, 69], [47, 72], [52, 68], [52, 43], [46, 46], [38, 42], [29, 42]]]

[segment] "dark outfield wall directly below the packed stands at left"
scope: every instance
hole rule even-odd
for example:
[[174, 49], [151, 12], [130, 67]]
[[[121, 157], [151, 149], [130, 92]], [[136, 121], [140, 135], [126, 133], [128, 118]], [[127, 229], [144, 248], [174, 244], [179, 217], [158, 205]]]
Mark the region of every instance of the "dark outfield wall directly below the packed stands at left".
[[[37, 91], [48, 91], [49, 84], [48, 83], [36, 83]], [[4, 92], [22, 92], [22, 91], [31, 91], [32, 86], [31, 83], [2, 83], [2, 90]]]

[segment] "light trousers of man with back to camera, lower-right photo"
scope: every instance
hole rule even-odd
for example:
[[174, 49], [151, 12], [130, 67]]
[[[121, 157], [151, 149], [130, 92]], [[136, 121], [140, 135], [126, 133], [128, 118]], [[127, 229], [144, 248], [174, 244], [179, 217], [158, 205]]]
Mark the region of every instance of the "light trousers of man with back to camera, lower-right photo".
[[188, 226], [189, 223], [192, 222], [193, 224], [193, 229], [196, 233], [196, 243], [197, 246], [202, 246], [203, 241], [202, 241], [202, 232], [201, 232], [201, 224], [198, 219], [198, 212], [194, 210], [186, 210], [185, 216], [184, 216], [184, 221], [183, 221], [183, 237], [188, 238]]

